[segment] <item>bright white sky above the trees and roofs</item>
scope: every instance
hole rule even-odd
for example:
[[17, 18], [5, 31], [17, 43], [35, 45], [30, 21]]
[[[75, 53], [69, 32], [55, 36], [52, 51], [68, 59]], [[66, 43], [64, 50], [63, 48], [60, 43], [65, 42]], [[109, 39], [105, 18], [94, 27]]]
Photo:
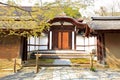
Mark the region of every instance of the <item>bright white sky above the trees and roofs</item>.
[[[0, 2], [6, 2], [7, 0], [0, 0]], [[15, 1], [15, 3], [22, 6], [33, 6], [36, 2], [40, 3], [40, 0], [11, 0]], [[44, 2], [54, 2], [55, 0], [42, 0]], [[75, 0], [72, 0], [75, 1]], [[119, 7], [118, 7], [119, 3]], [[94, 0], [94, 6], [89, 6], [86, 9], [80, 9], [80, 12], [83, 16], [93, 16], [95, 15], [95, 11], [99, 11], [100, 7], [103, 6], [106, 10], [110, 11], [112, 7], [117, 12], [120, 12], [120, 0]]]

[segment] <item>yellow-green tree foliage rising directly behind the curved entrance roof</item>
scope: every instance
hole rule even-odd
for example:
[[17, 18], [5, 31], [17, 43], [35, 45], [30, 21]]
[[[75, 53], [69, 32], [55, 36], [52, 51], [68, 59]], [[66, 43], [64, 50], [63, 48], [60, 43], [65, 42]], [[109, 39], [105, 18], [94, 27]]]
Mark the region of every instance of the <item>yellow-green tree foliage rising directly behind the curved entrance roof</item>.
[[[46, 3], [47, 4], [47, 3]], [[82, 7], [81, 4], [76, 2], [62, 2], [62, 1], [56, 1], [54, 3], [47, 4], [48, 6], [56, 7], [59, 12], [65, 13], [66, 16], [70, 16], [73, 18], [80, 18], [81, 14], [79, 12], [79, 8]], [[59, 15], [59, 14], [58, 14]]]

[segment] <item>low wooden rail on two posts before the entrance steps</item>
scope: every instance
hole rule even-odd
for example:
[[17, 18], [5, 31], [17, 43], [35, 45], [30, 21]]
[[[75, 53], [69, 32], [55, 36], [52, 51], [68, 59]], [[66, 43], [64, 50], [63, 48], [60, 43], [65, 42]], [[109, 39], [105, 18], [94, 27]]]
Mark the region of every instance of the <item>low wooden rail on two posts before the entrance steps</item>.
[[[90, 60], [90, 68], [93, 68], [93, 57], [94, 54], [90, 53], [90, 54], [80, 54], [80, 53], [67, 53], [67, 54], [35, 54], [36, 56], [36, 73], [39, 72], [39, 64], [38, 64], [38, 60], [39, 57], [41, 56], [58, 56], [59, 59], [71, 59], [71, 58], [89, 58]], [[47, 57], [46, 57], [47, 58]], [[54, 57], [51, 57], [51, 59]]]

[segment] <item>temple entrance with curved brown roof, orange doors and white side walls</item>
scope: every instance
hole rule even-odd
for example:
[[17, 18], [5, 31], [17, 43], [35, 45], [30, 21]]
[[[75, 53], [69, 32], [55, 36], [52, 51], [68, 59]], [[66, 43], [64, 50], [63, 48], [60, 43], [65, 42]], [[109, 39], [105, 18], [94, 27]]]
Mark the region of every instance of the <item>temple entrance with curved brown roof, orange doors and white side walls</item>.
[[49, 23], [51, 24], [50, 28], [42, 36], [29, 38], [29, 52], [35, 50], [48, 52], [54, 50], [87, 51], [88, 49], [95, 49], [95, 38], [91, 37], [94, 42], [90, 42], [88, 38], [90, 29], [86, 23], [82, 23], [82, 20], [78, 21], [67, 16], [60, 16], [50, 20]]

